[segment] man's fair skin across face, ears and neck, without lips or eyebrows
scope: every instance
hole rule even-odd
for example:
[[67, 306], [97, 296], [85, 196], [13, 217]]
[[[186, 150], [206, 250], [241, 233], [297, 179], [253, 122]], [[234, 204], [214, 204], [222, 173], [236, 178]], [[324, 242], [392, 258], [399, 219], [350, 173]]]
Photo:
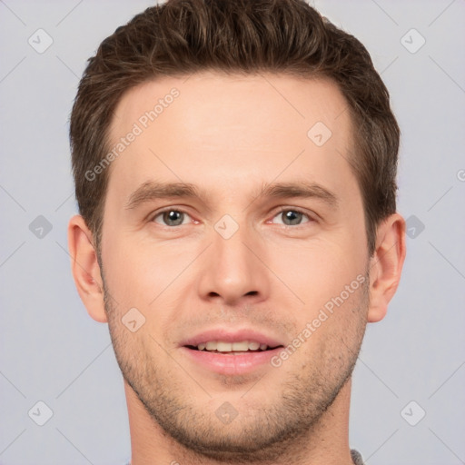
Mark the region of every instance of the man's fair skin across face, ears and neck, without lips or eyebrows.
[[[173, 87], [173, 104], [111, 164], [103, 270], [83, 218], [68, 229], [78, 292], [91, 317], [108, 322], [124, 374], [132, 464], [350, 464], [351, 371], [367, 322], [384, 317], [401, 278], [405, 222], [399, 213], [386, 218], [369, 256], [346, 160], [355, 132], [330, 81], [166, 77], [124, 94], [111, 142]], [[316, 122], [331, 129], [322, 146], [307, 136]], [[193, 183], [204, 197], [125, 208], [148, 181]], [[337, 207], [257, 196], [296, 181], [320, 184]], [[181, 225], [163, 223], [165, 207], [185, 213]], [[280, 207], [303, 214], [289, 224]], [[214, 228], [224, 214], [238, 226], [229, 239]], [[364, 284], [279, 367], [221, 375], [179, 347], [211, 326], [253, 328], [287, 346], [357, 276]], [[131, 308], [145, 318], [135, 332], [121, 322]], [[229, 424], [215, 415], [225, 401], [237, 411]]]

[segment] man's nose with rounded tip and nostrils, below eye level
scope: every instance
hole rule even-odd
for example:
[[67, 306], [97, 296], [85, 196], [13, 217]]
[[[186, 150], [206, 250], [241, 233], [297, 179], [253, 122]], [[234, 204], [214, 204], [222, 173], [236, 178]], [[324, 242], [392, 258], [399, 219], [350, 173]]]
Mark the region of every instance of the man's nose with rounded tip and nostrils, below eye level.
[[265, 300], [270, 292], [270, 276], [265, 265], [266, 250], [257, 233], [245, 225], [231, 237], [213, 229], [212, 240], [198, 282], [201, 298], [224, 305]]

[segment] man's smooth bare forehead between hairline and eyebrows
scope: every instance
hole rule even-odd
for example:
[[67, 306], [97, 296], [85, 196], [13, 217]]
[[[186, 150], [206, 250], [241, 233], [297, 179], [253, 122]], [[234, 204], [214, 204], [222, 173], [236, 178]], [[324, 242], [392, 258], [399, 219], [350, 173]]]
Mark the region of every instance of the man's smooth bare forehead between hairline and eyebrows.
[[346, 110], [329, 80], [203, 73], [140, 84], [114, 111], [109, 142], [123, 150], [111, 165], [108, 192], [124, 202], [153, 179], [211, 184], [219, 195], [227, 185], [230, 196], [254, 189], [253, 180], [284, 182], [302, 173], [353, 182]]

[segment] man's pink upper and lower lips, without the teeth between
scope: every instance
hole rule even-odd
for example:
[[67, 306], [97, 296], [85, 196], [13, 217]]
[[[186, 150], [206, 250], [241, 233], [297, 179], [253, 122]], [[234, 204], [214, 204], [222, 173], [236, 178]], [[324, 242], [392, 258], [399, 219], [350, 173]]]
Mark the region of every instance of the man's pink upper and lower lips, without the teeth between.
[[[207, 341], [256, 341], [269, 347], [276, 347], [268, 351], [250, 351], [238, 353], [218, 353], [210, 351], [196, 351], [186, 346], [196, 346]], [[268, 365], [271, 368], [270, 359], [282, 351], [284, 343], [269, 335], [254, 330], [231, 331], [224, 328], [203, 331], [191, 338], [182, 341], [180, 351], [195, 365], [203, 367], [207, 371], [213, 371], [223, 375], [243, 375], [258, 370]]]

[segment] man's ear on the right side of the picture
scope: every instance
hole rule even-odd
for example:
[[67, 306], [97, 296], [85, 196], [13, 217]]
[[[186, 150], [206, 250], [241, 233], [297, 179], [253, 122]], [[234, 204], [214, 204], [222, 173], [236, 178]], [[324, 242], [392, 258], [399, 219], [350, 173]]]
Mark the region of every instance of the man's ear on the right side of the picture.
[[370, 309], [368, 322], [379, 322], [401, 280], [405, 260], [405, 220], [391, 214], [379, 226], [370, 262]]

